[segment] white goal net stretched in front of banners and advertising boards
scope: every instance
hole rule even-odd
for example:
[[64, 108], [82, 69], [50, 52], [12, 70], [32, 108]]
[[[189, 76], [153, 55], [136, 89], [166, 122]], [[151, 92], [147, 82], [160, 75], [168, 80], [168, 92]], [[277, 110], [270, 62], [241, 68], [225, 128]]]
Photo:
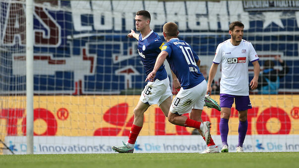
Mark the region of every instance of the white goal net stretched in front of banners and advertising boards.
[[[27, 150], [25, 8], [25, 0], [0, 0], [0, 154]], [[275, 83], [277, 93], [250, 91], [244, 150], [299, 151], [299, 0], [36, 0], [35, 154], [112, 153], [111, 146], [126, 142], [146, 85], [137, 41], [126, 37], [135, 30], [138, 10], [151, 13], [150, 27], [162, 39], [163, 24], [176, 22], [179, 38], [197, 53], [204, 74], [217, 45], [230, 38], [229, 24], [241, 21], [243, 39], [254, 46], [261, 73], [269, 60], [273, 69], [284, 71]], [[251, 80], [251, 63], [248, 70]], [[167, 71], [172, 79], [169, 67]], [[211, 94], [218, 102], [220, 78], [218, 68]], [[221, 147], [220, 112], [204, 107], [202, 118], [211, 121], [212, 137]], [[233, 105], [232, 152], [238, 125]], [[196, 133], [171, 124], [153, 105], [144, 113], [134, 152], [200, 152], [206, 145], [200, 135], [192, 135]]]

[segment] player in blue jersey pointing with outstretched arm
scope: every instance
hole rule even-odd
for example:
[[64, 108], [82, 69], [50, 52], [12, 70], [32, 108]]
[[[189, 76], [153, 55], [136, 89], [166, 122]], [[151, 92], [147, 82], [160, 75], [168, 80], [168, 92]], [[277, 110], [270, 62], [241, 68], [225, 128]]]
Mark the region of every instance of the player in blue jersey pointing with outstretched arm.
[[[164, 45], [160, 36], [150, 28], [151, 16], [146, 10], [140, 10], [135, 15], [136, 34], [133, 30], [127, 36], [138, 40], [138, 54], [144, 65], [146, 74], [149, 74], [155, 65], [156, 58]], [[120, 146], [113, 146], [112, 149], [119, 153], [133, 153], [134, 144], [143, 125], [143, 113], [149, 106], [158, 104], [165, 116], [172, 102], [170, 81], [164, 65], [157, 69], [157, 75], [152, 82], [148, 82], [141, 93], [139, 102], [134, 109], [134, 121], [127, 143]]]

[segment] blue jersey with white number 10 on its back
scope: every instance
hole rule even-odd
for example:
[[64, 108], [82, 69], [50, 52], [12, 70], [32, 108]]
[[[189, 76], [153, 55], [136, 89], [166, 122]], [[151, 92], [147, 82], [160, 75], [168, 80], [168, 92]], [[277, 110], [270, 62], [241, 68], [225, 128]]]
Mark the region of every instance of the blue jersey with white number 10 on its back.
[[162, 47], [162, 51], [168, 53], [169, 65], [183, 89], [190, 89], [205, 79], [196, 64], [198, 56], [185, 41], [173, 38]]

